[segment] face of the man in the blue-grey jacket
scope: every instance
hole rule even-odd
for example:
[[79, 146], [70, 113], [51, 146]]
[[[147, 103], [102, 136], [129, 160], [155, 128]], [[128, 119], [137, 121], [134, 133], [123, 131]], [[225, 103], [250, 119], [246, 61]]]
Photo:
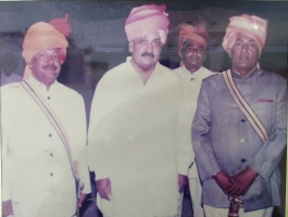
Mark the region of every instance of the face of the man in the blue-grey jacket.
[[228, 55], [231, 59], [233, 69], [242, 77], [247, 77], [258, 64], [259, 48], [254, 39], [239, 34]]

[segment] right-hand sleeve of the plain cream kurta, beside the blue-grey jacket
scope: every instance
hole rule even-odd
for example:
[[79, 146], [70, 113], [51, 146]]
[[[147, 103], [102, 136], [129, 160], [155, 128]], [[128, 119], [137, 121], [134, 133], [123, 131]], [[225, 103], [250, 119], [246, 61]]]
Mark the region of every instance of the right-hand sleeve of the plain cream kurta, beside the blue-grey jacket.
[[191, 125], [189, 107], [185, 103], [184, 88], [178, 88], [177, 108], [177, 170], [180, 175], [188, 175], [189, 166], [195, 159], [191, 144]]

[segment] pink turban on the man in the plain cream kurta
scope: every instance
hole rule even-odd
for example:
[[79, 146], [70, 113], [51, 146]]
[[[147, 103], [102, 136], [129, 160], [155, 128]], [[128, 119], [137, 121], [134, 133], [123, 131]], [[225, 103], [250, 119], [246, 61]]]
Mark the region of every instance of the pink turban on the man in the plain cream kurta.
[[133, 9], [125, 24], [128, 41], [158, 31], [161, 42], [165, 43], [170, 24], [165, 10], [164, 4], [150, 4]]

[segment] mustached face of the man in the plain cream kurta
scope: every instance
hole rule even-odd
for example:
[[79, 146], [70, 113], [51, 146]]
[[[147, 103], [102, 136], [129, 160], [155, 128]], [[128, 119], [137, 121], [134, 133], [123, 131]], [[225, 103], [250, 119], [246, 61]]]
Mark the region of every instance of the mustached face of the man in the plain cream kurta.
[[158, 33], [136, 38], [129, 42], [133, 65], [142, 72], [151, 72], [159, 61], [162, 42]]

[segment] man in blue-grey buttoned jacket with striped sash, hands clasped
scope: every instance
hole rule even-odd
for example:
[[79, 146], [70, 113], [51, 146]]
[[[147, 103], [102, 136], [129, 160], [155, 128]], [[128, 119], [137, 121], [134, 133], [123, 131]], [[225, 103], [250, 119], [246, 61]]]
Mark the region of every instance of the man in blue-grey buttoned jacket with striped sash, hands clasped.
[[228, 197], [240, 217], [271, 217], [280, 205], [287, 80], [258, 66], [266, 28], [258, 16], [231, 17], [223, 41], [231, 69], [202, 82], [192, 144], [208, 217], [227, 217]]

